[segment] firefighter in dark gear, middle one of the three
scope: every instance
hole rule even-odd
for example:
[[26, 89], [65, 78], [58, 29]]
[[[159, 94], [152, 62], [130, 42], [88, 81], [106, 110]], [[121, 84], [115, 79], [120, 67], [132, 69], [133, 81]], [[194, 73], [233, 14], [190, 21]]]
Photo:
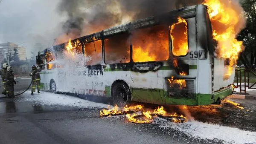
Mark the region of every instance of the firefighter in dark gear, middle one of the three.
[[14, 80], [12, 66], [8, 66], [6, 72], [6, 92], [9, 98], [14, 98], [14, 84], [16, 84], [16, 81]]

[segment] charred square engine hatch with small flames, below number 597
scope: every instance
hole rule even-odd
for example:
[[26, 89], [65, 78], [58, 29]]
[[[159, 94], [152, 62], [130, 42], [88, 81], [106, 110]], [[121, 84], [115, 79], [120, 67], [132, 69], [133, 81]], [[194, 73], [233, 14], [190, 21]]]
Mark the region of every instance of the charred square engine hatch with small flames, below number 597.
[[[168, 79], [185, 81], [186, 86], [181, 88], [178, 83], [171, 84]], [[169, 98], [195, 99], [195, 79], [166, 78], [166, 91], [167, 91], [167, 97]]]

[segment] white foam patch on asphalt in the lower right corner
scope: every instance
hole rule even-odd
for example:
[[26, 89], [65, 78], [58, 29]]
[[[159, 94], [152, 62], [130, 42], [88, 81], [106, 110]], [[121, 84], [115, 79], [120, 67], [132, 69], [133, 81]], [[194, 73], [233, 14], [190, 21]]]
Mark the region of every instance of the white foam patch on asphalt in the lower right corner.
[[172, 123], [162, 118], [157, 118], [154, 123], [160, 124], [160, 128], [175, 130], [191, 138], [208, 139], [216, 142], [222, 141], [225, 144], [256, 144], [256, 132], [239, 130], [238, 128], [199, 121]]

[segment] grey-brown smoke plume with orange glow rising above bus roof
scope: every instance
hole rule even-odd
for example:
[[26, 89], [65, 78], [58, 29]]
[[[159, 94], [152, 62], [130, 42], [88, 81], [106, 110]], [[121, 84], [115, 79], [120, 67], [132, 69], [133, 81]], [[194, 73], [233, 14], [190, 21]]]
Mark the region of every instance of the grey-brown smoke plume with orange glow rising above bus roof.
[[68, 19], [62, 26], [63, 35], [55, 39], [55, 44], [201, 2], [202, 0], [61, 0], [57, 10], [60, 14], [67, 14]]

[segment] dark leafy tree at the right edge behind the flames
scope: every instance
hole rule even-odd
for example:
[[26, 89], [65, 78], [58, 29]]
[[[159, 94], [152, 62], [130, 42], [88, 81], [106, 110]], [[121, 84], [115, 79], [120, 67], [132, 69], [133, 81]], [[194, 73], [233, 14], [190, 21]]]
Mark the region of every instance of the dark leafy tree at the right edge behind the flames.
[[238, 63], [246, 68], [256, 68], [256, 0], [243, 0], [241, 2], [246, 16], [246, 28], [238, 35], [243, 41], [244, 52], [241, 53]]

